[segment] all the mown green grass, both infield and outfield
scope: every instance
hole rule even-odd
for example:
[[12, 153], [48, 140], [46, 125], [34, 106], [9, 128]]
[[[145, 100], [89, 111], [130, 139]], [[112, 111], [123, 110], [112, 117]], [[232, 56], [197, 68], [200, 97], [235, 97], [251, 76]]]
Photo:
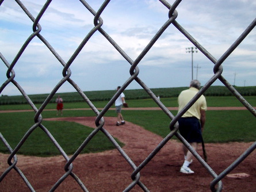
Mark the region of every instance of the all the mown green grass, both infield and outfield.
[[[255, 97], [251, 96], [246, 98], [251, 105], [255, 106]], [[167, 106], [177, 106], [177, 98], [163, 98], [161, 101]], [[128, 101], [127, 101], [128, 102]], [[234, 97], [207, 97], [208, 106], [242, 106]], [[64, 103], [70, 109], [84, 108], [83, 105], [78, 103]], [[95, 106], [103, 107], [106, 102], [95, 102]], [[151, 99], [131, 100], [129, 101], [131, 107], [153, 107], [156, 106]], [[2, 108], [3, 106], [1, 106]], [[13, 105], [6, 105], [11, 109]], [[21, 107], [21, 106], [19, 106]], [[19, 108], [18, 107], [18, 108]], [[29, 109], [29, 106], [22, 109]], [[51, 109], [50, 106], [47, 106]], [[6, 108], [6, 110], [7, 110]], [[17, 109], [17, 108], [13, 108]], [[21, 108], [19, 108], [21, 109]], [[55, 105], [52, 105], [55, 109]], [[0, 109], [1, 110], [1, 109]], [[172, 111], [175, 115], [177, 111]], [[43, 118], [56, 117], [56, 111], [44, 111]], [[22, 136], [34, 124], [34, 112], [22, 113], [0, 113], [0, 132], [9, 142], [12, 148], [16, 147]], [[64, 110], [63, 117], [81, 117], [81, 116], [95, 116], [91, 110]], [[116, 117], [114, 110], [109, 110], [106, 116]], [[170, 118], [162, 111], [146, 111], [146, 110], [123, 110], [125, 120], [133, 122], [134, 124], [143, 126], [145, 129], [150, 130], [162, 137], [169, 134]], [[114, 122], [113, 122], [114, 124]], [[43, 125], [49, 129], [55, 139], [63, 147], [64, 151], [72, 154], [82, 144], [87, 135], [91, 133], [93, 128], [77, 124], [75, 122], [52, 122], [43, 121]], [[255, 117], [247, 110], [234, 110], [234, 111], [207, 111], [207, 121], [203, 133], [205, 143], [227, 143], [231, 141], [255, 141]], [[61, 129], [61, 131], [60, 131]], [[175, 138], [174, 138], [175, 139]], [[117, 140], [118, 141], [118, 140]], [[119, 141], [118, 141], [119, 142]], [[120, 145], [122, 145], [120, 143]], [[99, 152], [106, 149], [112, 149], [113, 145], [102, 134], [97, 133], [97, 137], [91, 140], [90, 144], [85, 148], [83, 153]], [[0, 152], [7, 152], [3, 143], [0, 144]], [[41, 129], [33, 132], [29, 139], [22, 145], [20, 153], [25, 155], [36, 156], [52, 156], [59, 155], [60, 153], [54, 147], [54, 144], [45, 136]]]

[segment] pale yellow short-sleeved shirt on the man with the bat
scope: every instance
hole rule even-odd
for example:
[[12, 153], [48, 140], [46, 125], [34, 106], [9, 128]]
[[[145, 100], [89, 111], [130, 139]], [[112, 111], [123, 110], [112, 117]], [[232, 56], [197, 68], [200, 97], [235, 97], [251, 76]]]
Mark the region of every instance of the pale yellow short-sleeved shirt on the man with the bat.
[[[181, 91], [178, 97], [178, 112], [180, 112], [186, 106], [186, 104], [188, 104], [188, 102], [194, 97], [194, 95], [197, 94], [198, 91], [199, 90], [194, 87], [190, 87], [187, 90]], [[200, 110], [207, 110], [207, 103], [204, 95], [201, 95], [201, 97], [197, 99], [197, 101], [189, 108], [186, 113], [184, 113], [182, 117], [196, 117], [198, 120], [200, 120]]]

